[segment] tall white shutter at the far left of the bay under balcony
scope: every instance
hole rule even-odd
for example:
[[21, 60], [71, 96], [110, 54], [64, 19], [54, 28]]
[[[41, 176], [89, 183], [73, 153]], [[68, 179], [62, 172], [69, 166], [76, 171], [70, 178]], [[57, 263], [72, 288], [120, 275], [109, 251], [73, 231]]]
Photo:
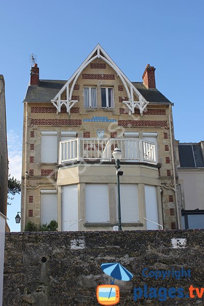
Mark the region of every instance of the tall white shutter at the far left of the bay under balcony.
[[[78, 231], [78, 186], [68, 185], [62, 187], [62, 230]], [[75, 223], [75, 224], [73, 224]]]

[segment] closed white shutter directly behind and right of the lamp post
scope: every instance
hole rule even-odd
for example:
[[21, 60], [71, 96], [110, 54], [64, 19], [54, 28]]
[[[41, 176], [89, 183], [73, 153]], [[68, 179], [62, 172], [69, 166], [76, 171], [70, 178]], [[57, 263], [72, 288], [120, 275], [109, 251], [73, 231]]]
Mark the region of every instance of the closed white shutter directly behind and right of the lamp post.
[[[121, 222], [139, 222], [138, 185], [120, 184]], [[118, 220], [118, 196], [116, 186], [116, 211]]]

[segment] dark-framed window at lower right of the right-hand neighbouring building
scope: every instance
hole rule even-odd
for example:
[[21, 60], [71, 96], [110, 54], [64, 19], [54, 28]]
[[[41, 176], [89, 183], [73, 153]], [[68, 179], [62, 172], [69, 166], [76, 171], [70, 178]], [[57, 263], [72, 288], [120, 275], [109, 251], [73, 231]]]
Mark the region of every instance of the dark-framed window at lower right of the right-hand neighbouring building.
[[182, 227], [185, 228], [204, 228], [204, 210], [182, 211]]

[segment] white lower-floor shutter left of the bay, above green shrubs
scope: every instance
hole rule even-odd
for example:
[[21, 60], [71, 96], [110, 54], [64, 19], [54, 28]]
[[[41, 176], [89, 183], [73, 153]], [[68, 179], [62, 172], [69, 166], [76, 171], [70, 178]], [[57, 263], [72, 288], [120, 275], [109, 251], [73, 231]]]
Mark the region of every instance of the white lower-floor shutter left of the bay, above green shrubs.
[[[46, 193], [45, 193], [46, 192]], [[50, 192], [50, 193], [48, 193]], [[55, 193], [53, 193], [55, 192]], [[41, 190], [41, 224], [57, 221], [57, 194], [56, 190]]]

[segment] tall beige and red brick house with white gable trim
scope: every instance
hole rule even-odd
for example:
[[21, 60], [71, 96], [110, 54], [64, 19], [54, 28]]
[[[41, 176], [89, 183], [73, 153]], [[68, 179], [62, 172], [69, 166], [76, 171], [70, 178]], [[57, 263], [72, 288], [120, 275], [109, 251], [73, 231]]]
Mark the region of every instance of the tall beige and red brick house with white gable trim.
[[59, 231], [112, 230], [115, 147], [123, 230], [161, 228], [146, 219], [180, 227], [172, 103], [156, 89], [154, 67], [142, 79], [127, 79], [99, 44], [68, 81], [40, 80], [34, 64], [24, 99], [22, 231], [29, 220], [52, 219]]

